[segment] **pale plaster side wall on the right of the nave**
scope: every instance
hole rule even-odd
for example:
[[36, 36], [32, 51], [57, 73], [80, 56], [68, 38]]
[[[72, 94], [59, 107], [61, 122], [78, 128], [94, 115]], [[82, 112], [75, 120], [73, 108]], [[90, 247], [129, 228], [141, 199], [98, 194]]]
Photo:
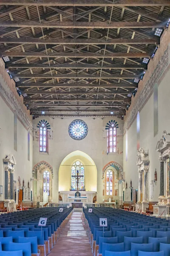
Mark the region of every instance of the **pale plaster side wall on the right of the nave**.
[[[158, 87], [158, 121], [159, 131], [158, 134], [153, 136], [153, 94], [150, 96], [147, 103], [140, 110], [140, 147], [148, 150], [149, 153], [149, 181], [154, 180], [154, 172], [157, 169], [158, 181], [154, 184], [153, 199], [149, 198], [149, 201], [158, 201], [159, 197], [159, 176], [160, 176], [160, 163], [159, 153], [156, 152], [157, 141], [161, 139], [162, 132], [164, 130], [167, 133], [170, 132], [170, 70], [161, 78], [161, 82]], [[125, 137], [124, 134], [124, 148], [125, 148]], [[138, 168], [136, 166], [137, 156], [137, 136], [136, 136], [136, 119], [131, 124], [127, 131], [128, 137], [128, 154], [127, 161], [125, 156], [125, 150], [123, 154], [123, 166], [125, 171], [125, 182], [127, 181], [127, 192], [128, 198], [130, 198], [130, 179], [132, 179], [132, 186], [134, 189], [138, 188]], [[166, 172], [165, 172], [165, 183], [166, 183]], [[125, 196], [125, 201], [126, 196]]]

